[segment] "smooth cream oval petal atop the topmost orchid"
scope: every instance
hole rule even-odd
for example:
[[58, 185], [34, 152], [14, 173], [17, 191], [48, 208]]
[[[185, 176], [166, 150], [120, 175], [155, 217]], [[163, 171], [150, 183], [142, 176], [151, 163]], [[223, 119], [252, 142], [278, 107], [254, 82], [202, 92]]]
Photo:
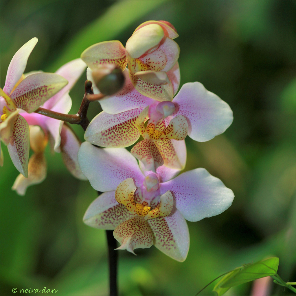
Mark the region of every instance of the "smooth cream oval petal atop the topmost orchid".
[[164, 30], [158, 24], [148, 24], [135, 31], [127, 40], [125, 48], [132, 58], [138, 58], [155, 48], [164, 37]]

